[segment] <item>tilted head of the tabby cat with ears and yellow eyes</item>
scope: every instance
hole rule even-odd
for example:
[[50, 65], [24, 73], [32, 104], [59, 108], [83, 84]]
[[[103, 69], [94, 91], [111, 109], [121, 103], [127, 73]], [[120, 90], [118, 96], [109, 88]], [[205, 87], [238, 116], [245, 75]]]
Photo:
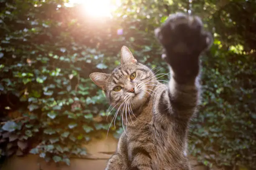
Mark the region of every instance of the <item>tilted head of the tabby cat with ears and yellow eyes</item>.
[[147, 66], [138, 63], [125, 46], [121, 49], [121, 61], [122, 64], [111, 74], [94, 72], [90, 78], [102, 87], [113, 107], [128, 111], [147, 101], [156, 81], [154, 73]]

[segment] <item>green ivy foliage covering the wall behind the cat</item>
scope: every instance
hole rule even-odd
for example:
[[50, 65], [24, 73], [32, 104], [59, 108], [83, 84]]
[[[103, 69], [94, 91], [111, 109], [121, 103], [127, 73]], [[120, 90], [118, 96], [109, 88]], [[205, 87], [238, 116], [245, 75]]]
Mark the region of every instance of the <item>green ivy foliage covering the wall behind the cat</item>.
[[[166, 72], [153, 30], [181, 11], [201, 16], [215, 37], [202, 57], [202, 103], [189, 152], [207, 166], [255, 169], [255, 1], [123, 0], [112, 19], [99, 20], [63, 4], [0, 0], [1, 162], [32, 153], [69, 165], [87, 155], [81, 144], [101, 138], [113, 117], [89, 74], [119, 65], [122, 45]], [[119, 123], [111, 125], [117, 138], [121, 132]]]

